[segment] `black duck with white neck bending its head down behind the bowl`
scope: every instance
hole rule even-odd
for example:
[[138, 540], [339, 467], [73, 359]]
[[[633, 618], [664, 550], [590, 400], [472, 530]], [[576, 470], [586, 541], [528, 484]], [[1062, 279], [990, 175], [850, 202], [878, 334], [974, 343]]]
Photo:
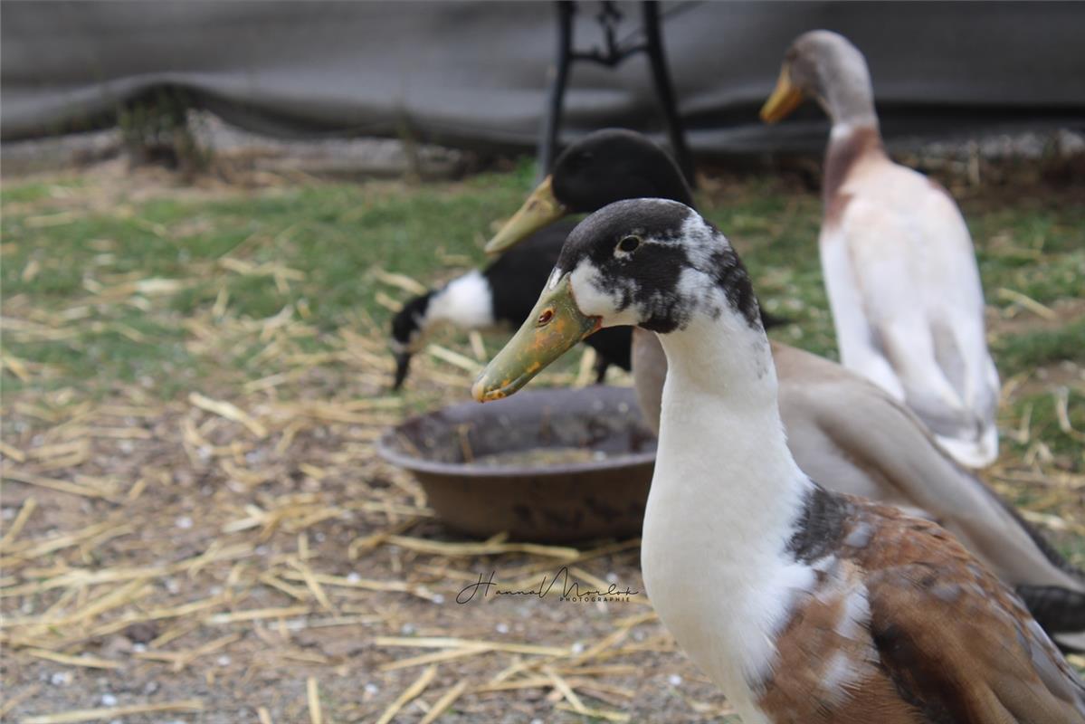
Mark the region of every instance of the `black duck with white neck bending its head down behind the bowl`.
[[[451, 325], [463, 331], [519, 327], [532, 310], [574, 226], [567, 221], [531, 233], [522, 246], [485, 268], [472, 269], [405, 302], [391, 322], [388, 346], [396, 363], [392, 389], [403, 388], [411, 357], [439, 326]], [[597, 353], [597, 384], [605, 380], [612, 365], [629, 371], [630, 335], [629, 329], [613, 329], [586, 341]]]

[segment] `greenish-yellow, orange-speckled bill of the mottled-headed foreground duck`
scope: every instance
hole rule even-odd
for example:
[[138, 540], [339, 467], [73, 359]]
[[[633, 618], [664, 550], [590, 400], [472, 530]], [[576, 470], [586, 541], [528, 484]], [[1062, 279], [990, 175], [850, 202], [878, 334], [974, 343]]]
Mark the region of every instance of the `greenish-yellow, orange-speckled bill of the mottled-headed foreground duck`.
[[475, 380], [472, 396], [481, 403], [508, 397], [599, 326], [599, 317], [577, 308], [569, 277], [562, 277], [542, 290], [523, 327]]

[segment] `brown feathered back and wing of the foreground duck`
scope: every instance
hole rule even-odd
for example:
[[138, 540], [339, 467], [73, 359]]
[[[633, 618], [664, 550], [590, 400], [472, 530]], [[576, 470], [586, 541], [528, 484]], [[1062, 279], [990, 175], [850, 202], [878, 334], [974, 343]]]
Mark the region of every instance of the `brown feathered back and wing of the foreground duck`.
[[[774, 724], [1085, 721], [1085, 687], [1027, 610], [929, 521], [820, 492], [816, 571], [776, 640]], [[813, 522], [813, 521], [812, 521]], [[810, 702], [818, 702], [810, 707]]]

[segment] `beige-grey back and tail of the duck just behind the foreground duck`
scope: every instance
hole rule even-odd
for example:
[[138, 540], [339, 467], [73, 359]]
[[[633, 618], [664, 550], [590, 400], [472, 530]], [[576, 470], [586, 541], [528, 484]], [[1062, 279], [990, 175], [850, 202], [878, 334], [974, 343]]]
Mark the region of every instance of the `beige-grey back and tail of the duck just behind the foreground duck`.
[[936, 521], [1018, 588], [1048, 633], [1085, 637], [1085, 575], [1014, 509], [957, 465], [923, 423], [877, 385], [773, 343], [780, 415], [799, 467], [831, 490]]

